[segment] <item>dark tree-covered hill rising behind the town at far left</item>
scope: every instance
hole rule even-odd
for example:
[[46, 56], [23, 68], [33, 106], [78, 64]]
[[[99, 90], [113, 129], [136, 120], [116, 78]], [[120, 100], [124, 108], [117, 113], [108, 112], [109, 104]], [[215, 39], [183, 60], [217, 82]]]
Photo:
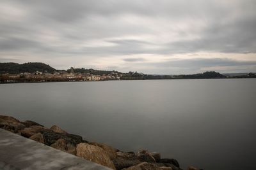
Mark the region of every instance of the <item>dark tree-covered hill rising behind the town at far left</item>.
[[54, 71], [56, 71], [56, 69], [42, 62], [27, 62], [24, 64], [17, 64], [14, 62], [0, 63], [0, 74], [19, 74], [24, 72], [35, 73], [36, 71], [47, 71], [48, 73], [53, 73]]

